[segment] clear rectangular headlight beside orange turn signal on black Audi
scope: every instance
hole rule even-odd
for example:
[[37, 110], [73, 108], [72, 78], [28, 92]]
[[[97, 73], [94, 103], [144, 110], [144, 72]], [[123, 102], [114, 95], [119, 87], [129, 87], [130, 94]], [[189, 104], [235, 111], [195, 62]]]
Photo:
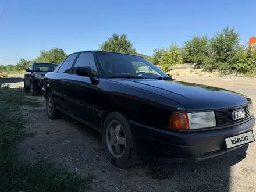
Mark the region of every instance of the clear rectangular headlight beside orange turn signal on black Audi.
[[187, 116], [189, 118], [190, 129], [200, 129], [216, 126], [216, 119], [213, 111], [187, 113]]

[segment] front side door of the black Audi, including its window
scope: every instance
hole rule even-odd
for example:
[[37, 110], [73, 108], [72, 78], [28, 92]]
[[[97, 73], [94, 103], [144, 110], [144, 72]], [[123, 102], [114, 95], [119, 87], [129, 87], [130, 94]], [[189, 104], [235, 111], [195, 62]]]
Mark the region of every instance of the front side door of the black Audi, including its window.
[[98, 89], [96, 85], [91, 83], [89, 77], [78, 76], [76, 67], [90, 66], [91, 69], [98, 73], [92, 52], [81, 52], [74, 63], [72, 72], [67, 77], [68, 97], [72, 101], [70, 111], [73, 115], [86, 120], [88, 123], [99, 126], [99, 113], [97, 102], [99, 99]]

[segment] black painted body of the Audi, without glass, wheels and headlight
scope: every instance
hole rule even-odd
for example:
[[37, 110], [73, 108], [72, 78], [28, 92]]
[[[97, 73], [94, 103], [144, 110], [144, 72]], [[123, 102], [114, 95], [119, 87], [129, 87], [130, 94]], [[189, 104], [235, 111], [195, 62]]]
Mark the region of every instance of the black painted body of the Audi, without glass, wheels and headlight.
[[130, 120], [141, 154], [150, 148], [150, 151], [165, 151], [164, 154], [172, 154], [172, 157], [197, 161], [226, 152], [226, 137], [253, 129], [255, 118], [251, 116], [232, 125], [217, 124], [195, 131], [170, 130], [168, 123], [173, 112], [216, 113], [248, 106], [251, 99], [222, 88], [182, 81], [108, 78], [97, 58], [101, 51], [86, 52], [94, 55], [97, 83], [92, 83], [87, 76], [73, 74], [77, 58], [83, 53], [79, 52], [73, 56], [69, 69], [60, 72], [62, 66], [58, 66], [45, 75], [42, 87], [45, 97], [51, 91], [61, 111], [100, 133], [110, 112], [122, 113]]

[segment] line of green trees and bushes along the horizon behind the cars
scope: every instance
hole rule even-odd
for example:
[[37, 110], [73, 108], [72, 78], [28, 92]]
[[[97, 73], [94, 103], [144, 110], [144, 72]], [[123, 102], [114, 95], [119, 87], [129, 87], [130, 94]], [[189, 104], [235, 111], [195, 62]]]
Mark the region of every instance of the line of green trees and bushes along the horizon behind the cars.
[[[112, 34], [99, 45], [98, 49], [142, 55], [136, 52], [126, 34]], [[0, 73], [23, 74], [32, 61], [59, 64], [66, 56], [62, 48], [42, 50], [40, 56], [35, 59], [20, 59], [17, 65], [0, 65]], [[201, 68], [204, 72], [214, 72], [222, 76], [227, 74], [256, 76], [256, 47], [241, 45], [239, 34], [233, 27], [224, 27], [213, 37], [194, 35], [190, 40], [184, 41], [182, 47], [172, 42], [166, 49], [154, 49], [152, 56], [143, 56], [154, 65], [161, 67], [164, 72], [172, 70], [170, 67], [173, 65], [188, 63], [196, 64], [195, 69]]]

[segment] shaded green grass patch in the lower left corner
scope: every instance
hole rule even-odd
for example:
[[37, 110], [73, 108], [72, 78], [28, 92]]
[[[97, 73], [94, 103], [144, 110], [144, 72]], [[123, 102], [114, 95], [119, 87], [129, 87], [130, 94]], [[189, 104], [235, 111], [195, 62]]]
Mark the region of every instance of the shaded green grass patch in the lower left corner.
[[81, 177], [46, 162], [20, 162], [16, 144], [27, 136], [17, 101], [22, 89], [0, 88], [0, 191], [79, 191], [91, 177]]

